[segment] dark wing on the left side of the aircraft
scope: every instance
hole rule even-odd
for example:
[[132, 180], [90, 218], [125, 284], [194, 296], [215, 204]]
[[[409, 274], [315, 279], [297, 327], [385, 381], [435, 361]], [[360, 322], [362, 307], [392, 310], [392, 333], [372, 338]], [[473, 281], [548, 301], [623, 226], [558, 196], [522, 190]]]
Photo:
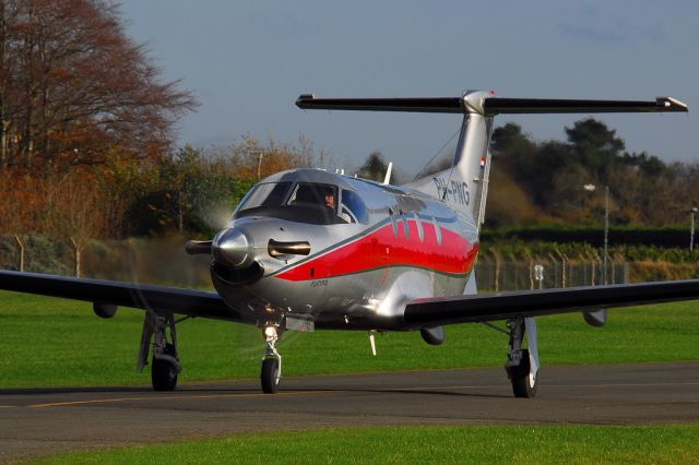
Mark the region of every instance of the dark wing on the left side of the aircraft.
[[204, 290], [10, 271], [0, 271], [0, 289], [154, 310], [156, 313], [244, 320], [241, 313], [228, 307], [218, 294]]

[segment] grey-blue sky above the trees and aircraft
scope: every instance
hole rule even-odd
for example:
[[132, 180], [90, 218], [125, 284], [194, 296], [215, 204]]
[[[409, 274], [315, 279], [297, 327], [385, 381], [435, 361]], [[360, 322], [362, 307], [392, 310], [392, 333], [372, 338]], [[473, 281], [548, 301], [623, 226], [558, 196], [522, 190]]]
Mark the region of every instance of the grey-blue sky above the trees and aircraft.
[[[458, 115], [303, 111], [319, 97], [654, 99], [688, 115], [599, 115], [630, 152], [699, 160], [697, 1], [227, 1], [123, 0], [128, 34], [165, 80], [201, 106], [177, 142], [225, 146], [244, 134], [308, 138], [334, 168], [380, 151], [416, 171], [458, 130]], [[565, 140], [587, 115], [500, 116], [537, 141]], [[330, 167], [333, 168], [333, 167]]]

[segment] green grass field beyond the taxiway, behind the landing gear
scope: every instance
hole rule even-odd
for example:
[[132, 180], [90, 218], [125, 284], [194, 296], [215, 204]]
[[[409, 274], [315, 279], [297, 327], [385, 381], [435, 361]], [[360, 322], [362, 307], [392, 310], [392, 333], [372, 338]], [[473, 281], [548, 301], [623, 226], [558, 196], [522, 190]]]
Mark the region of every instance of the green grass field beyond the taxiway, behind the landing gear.
[[[541, 318], [544, 365], [699, 359], [699, 303], [615, 310], [606, 327], [579, 314]], [[143, 312], [120, 309], [95, 317], [87, 303], [0, 291], [0, 388], [132, 385]], [[190, 320], [178, 325], [182, 381], [254, 378], [263, 351], [261, 331], [228, 322]], [[447, 327], [442, 346], [418, 333], [377, 338], [370, 355], [364, 332], [288, 332], [280, 344], [285, 375], [351, 373], [503, 363], [506, 336], [483, 325]]]

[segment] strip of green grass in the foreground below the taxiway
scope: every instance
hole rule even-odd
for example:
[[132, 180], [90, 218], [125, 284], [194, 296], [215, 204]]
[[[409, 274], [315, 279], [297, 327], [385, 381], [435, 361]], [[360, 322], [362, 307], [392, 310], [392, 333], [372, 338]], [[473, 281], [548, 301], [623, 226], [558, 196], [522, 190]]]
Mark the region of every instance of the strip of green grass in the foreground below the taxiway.
[[400, 427], [238, 434], [56, 455], [63, 463], [698, 463], [699, 425]]

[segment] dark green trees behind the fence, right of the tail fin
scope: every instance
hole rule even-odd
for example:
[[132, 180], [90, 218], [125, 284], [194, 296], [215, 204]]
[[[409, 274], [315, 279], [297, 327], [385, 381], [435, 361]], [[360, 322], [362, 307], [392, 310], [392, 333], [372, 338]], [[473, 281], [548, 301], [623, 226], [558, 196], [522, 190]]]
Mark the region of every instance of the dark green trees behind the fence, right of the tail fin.
[[699, 164], [629, 153], [614, 129], [593, 118], [565, 131], [567, 141], [545, 142], [514, 123], [494, 131], [487, 226], [601, 224], [605, 187], [614, 225], [689, 220], [699, 202]]

